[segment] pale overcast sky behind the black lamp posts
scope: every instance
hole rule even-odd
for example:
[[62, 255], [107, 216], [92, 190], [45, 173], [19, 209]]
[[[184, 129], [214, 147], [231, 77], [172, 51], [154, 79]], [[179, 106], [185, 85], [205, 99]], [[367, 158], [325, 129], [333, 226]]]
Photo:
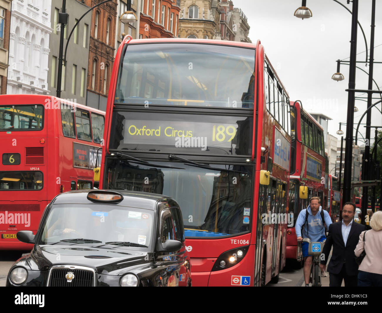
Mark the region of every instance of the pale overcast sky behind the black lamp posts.
[[[348, 5], [346, 0], [339, 1], [352, 10], [352, 3]], [[382, 62], [382, 1], [376, 2], [374, 47], [379, 47], [374, 49], [374, 61]], [[371, 0], [360, 0], [358, 10], [358, 21], [364, 29], [368, 49], [371, 4]], [[345, 76], [343, 81], [336, 82], [331, 77], [337, 70], [337, 59], [349, 60], [351, 14], [333, 0], [307, 0], [306, 6], [311, 9], [312, 17], [304, 20], [293, 16], [301, 6], [301, 0], [233, 0], [233, 5], [241, 8], [248, 17], [251, 27], [249, 37], [253, 43], [260, 39], [264, 45], [265, 53], [288, 91], [290, 100], [301, 100], [308, 112], [320, 112], [332, 118], [328, 131], [340, 139], [336, 131], [339, 122], [346, 124], [348, 92], [345, 89], [348, 88], [349, 66], [341, 65], [340, 72]], [[357, 61], [366, 60], [365, 50], [364, 38], [358, 27]], [[357, 63], [357, 66], [369, 72], [369, 67], [365, 68], [364, 63]], [[382, 64], [374, 65], [373, 78], [382, 89]], [[357, 69], [356, 88], [367, 89], [367, 85], [368, 75]], [[375, 84], [373, 89], [376, 89]], [[367, 97], [366, 94], [364, 96]], [[373, 100], [373, 103], [376, 101]], [[367, 103], [356, 100], [355, 105], [358, 108], [358, 112], [354, 113], [356, 124]], [[381, 109], [380, 104], [377, 107]], [[366, 116], [362, 122], [366, 123]], [[382, 114], [377, 109], [372, 109], [371, 125], [382, 125]], [[363, 126], [359, 129], [365, 135]], [[342, 129], [346, 135], [345, 127], [343, 125]], [[374, 129], [371, 137], [374, 138]]]

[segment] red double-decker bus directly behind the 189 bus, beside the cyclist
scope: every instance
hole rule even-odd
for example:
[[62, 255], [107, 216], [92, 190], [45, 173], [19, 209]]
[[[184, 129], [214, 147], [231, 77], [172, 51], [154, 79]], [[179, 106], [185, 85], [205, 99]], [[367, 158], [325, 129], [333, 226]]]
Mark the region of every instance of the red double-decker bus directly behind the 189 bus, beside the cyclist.
[[301, 101], [291, 102], [290, 110], [292, 125], [296, 128], [292, 133], [288, 205], [294, 219], [293, 225], [288, 225], [286, 258], [301, 262], [301, 244], [297, 242], [295, 230], [298, 214], [308, 207], [313, 196], [318, 196], [322, 208], [326, 208], [324, 130], [303, 110]]

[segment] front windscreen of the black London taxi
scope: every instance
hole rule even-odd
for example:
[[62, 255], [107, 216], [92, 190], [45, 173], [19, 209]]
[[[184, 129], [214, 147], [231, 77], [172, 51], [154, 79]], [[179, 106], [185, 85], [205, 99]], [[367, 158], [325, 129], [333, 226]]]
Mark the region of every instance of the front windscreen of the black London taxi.
[[43, 225], [40, 244], [85, 238], [102, 243], [130, 242], [148, 247], [152, 221], [152, 211], [146, 209], [110, 204], [55, 204]]

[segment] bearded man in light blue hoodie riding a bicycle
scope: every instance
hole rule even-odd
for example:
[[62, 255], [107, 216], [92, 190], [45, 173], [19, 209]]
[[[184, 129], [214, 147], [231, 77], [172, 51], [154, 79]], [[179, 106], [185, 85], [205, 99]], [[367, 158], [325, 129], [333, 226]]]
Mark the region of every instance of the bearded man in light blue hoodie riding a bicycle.
[[[323, 219], [322, 216], [324, 217]], [[329, 213], [322, 210], [319, 197], [312, 197], [309, 201], [308, 208], [301, 210], [300, 214], [298, 214], [296, 221], [297, 240], [300, 241], [303, 240], [303, 238], [309, 238], [311, 242], [323, 242], [326, 239], [324, 223], [327, 227], [332, 224]], [[301, 235], [303, 237], [301, 237]], [[313, 259], [312, 256], [308, 256], [308, 247], [309, 244], [307, 242], [301, 244], [304, 257], [304, 279], [305, 286], [307, 287], [309, 286]]]

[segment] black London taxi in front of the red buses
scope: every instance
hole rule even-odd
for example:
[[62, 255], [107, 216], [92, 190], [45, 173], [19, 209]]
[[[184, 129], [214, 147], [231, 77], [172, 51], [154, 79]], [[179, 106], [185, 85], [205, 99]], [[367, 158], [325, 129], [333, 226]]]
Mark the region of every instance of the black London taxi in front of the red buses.
[[170, 197], [75, 190], [45, 208], [34, 243], [7, 286], [191, 286], [182, 214]]

